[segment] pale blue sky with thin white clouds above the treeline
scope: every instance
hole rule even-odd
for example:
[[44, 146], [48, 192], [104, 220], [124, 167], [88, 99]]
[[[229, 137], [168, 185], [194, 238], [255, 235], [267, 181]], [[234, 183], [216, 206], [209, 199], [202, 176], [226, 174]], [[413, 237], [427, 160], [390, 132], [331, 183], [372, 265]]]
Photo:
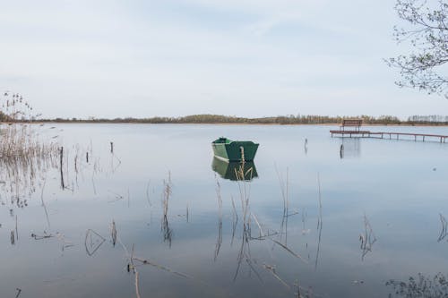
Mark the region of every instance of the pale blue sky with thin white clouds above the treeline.
[[392, 0], [0, 0], [0, 91], [44, 117], [448, 115], [383, 63]]

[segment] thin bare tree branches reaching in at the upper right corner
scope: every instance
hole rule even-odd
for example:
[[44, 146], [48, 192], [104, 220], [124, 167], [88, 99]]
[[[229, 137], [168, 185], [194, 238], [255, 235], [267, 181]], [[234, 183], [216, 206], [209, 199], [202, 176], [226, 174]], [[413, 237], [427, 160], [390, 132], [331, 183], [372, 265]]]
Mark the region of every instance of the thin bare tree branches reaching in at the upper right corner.
[[397, 43], [409, 43], [413, 48], [407, 55], [385, 59], [386, 64], [401, 74], [400, 87], [410, 87], [436, 93], [448, 98], [448, 27], [447, 0], [397, 0], [395, 10], [405, 28], [394, 28]]

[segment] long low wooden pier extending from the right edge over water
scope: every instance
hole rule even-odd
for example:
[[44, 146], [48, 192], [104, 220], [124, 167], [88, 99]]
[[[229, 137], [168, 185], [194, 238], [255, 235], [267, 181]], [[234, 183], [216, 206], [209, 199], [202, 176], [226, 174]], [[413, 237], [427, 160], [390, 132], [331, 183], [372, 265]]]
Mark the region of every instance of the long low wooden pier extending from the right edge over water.
[[[427, 134], [427, 133], [412, 133], [412, 132], [370, 132], [370, 131], [330, 131], [333, 135], [340, 136], [342, 138], [376, 138], [376, 139], [389, 139], [389, 140], [412, 140], [412, 137], [414, 137], [414, 140], [437, 140], [441, 143], [444, 143], [445, 140], [448, 138], [448, 135], [441, 135], [441, 134]], [[408, 137], [407, 139], [403, 139], [404, 137]], [[411, 137], [409, 139], [409, 137]]]

